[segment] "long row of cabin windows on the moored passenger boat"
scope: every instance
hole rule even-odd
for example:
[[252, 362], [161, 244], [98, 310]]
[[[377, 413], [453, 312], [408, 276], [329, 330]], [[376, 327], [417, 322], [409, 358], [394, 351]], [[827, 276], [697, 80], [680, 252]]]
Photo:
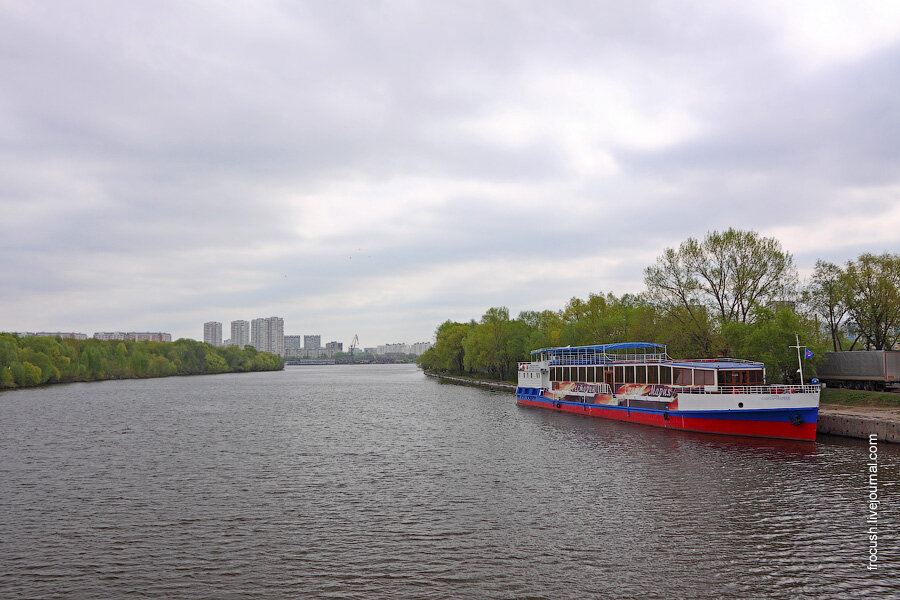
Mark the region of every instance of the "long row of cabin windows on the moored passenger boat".
[[[623, 383], [661, 383], [668, 385], [716, 385], [712, 369], [687, 369], [663, 365], [628, 365], [622, 367], [571, 366], [550, 367], [551, 381]], [[719, 385], [760, 385], [762, 371], [720, 371]]]

